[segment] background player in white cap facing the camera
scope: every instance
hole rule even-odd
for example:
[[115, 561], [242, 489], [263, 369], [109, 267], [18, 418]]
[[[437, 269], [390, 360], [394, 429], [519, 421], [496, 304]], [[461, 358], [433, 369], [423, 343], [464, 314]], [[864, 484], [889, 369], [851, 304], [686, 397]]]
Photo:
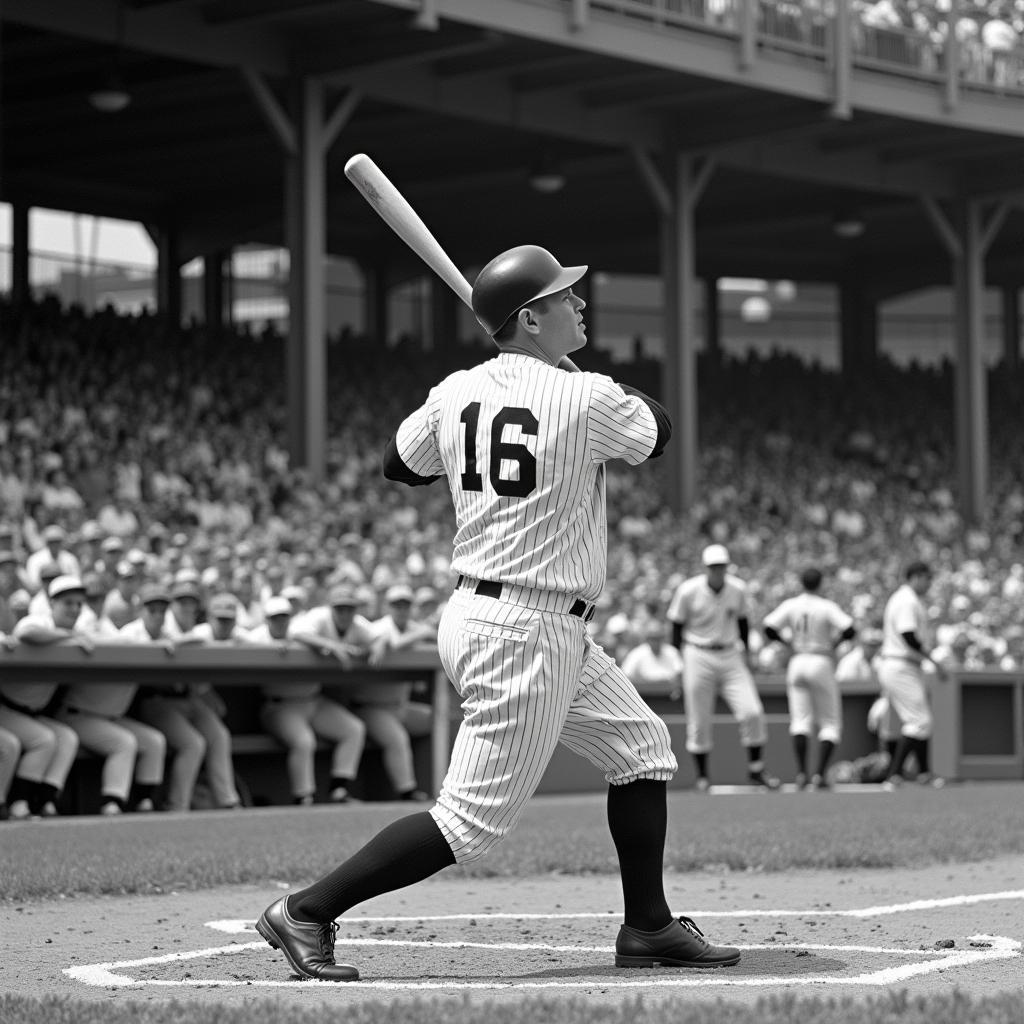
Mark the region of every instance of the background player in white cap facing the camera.
[[672, 642], [683, 652], [686, 750], [693, 756], [696, 787], [707, 792], [711, 784], [708, 755], [713, 745], [715, 698], [721, 693], [739, 723], [748, 777], [764, 790], [777, 790], [778, 779], [765, 771], [762, 760], [768, 729], [749, 665], [746, 585], [727, 571], [729, 552], [723, 545], [710, 544], [700, 561], [705, 571], [676, 588], [668, 612]]

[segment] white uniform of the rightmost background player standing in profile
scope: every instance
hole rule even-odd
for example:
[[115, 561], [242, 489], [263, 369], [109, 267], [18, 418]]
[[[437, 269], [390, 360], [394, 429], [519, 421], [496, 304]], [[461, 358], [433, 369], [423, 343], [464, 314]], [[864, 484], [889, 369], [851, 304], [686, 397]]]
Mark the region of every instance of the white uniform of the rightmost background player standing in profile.
[[932, 710], [922, 655], [903, 639], [913, 633], [922, 645], [931, 646], [931, 628], [924, 602], [909, 584], [903, 584], [886, 602], [882, 616], [882, 650], [879, 683], [902, 723], [901, 732], [911, 739], [932, 735]]

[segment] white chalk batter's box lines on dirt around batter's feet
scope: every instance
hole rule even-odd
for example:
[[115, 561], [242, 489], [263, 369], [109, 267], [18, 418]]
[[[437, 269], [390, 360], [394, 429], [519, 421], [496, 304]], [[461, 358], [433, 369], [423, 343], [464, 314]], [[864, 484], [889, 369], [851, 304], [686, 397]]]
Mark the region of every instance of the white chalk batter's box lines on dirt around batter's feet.
[[[902, 913], [909, 910], [928, 910], [950, 906], [967, 906], [976, 903], [1004, 901], [1004, 900], [1024, 900], [1024, 889], [998, 893], [979, 893], [974, 895], [949, 896], [941, 899], [913, 900], [908, 903], [893, 903], [889, 905], [862, 907], [849, 910], [833, 909], [811, 909], [811, 910], [768, 910], [758, 908], [755, 910], [707, 910], [694, 911], [694, 918], [773, 918], [773, 916], [803, 916], [803, 918], [824, 918], [824, 916], [847, 916], [847, 918], [874, 918], [892, 913]], [[345, 918], [346, 926], [364, 924], [394, 924], [394, 923], [421, 923], [437, 921], [571, 921], [571, 920], [594, 920], [594, 919], [616, 919], [618, 914], [613, 913], [453, 913], [433, 914], [423, 916], [367, 916], [367, 918]], [[207, 922], [207, 928], [227, 934], [246, 934], [255, 931], [255, 923], [250, 920], [229, 920]], [[649, 987], [707, 987], [718, 986], [754, 986], [754, 985], [871, 985], [886, 986], [907, 981], [910, 978], [930, 974], [936, 971], [945, 971], [950, 968], [968, 967], [974, 964], [991, 963], [993, 961], [1010, 959], [1020, 955], [1021, 943], [1016, 939], [1000, 935], [972, 935], [967, 941], [978, 943], [977, 947], [968, 949], [895, 949], [885, 946], [862, 946], [862, 945], [829, 945], [826, 943], [759, 943], [751, 945], [739, 945], [739, 949], [771, 949], [781, 950], [806, 950], [807, 952], [833, 952], [833, 953], [872, 953], [885, 954], [888, 956], [914, 957], [916, 963], [902, 964], [897, 967], [884, 968], [879, 971], [868, 971], [854, 976], [836, 975], [803, 975], [803, 976], [745, 976], [729, 977], [729, 970], [700, 971], [687, 976], [680, 976], [675, 973], [663, 976], [662, 972], [656, 974], [651, 971], [624, 972], [626, 975], [622, 980], [611, 980], [602, 976], [599, 980], [584, 981], [527, 981], [516, 979], [514, 981], [459, 981], [458, 979], [445, 979], [439, 981], [374, 981], [364, 980], [350, 984], [356, 987], [373, 988], [388, 991], [425, 991], [431, 989], [584, 989], [595, 986], [601, 988], [649, 988]], [[550, 945], [545, 943], [525, 942], [438, 942], [435, 940], [419, 941], [411, 939], [371, 939], [355, 936], [339, 936], [337, 946], [391, 946], [403, 948], [424, 948], [424, 949], [493, 949], [507, 952], [564, 952], [564, 953], [606, 953], [614, 952], [613, 946], [579, 946], [579, 945]], [[183, 952], [166, 953], [160, 956], [143, 956], [139, 959], [117, 961], [109, 964], [89, 964], [78, 967], [65, 968], [63, 973], [76, 981], [84, 982], [87, 985], [103, 985], [117, 988], [134, 988], [139, 986], [156, 987], [193, 987], [193, 988], [219, 988], [219, 987], [257, 987], [257, 988], [280, 988], [295, 987], [294, 980], [239, 980], [239, 979], [216, 979], [216, 978], [184, 978], [181, 980], [163, 979], [136, 979], [118, 972], [132, 968], [153, 967], [162, 964], [173, 964], [190, 959], [212, 958], [224, 956], [231, 953], [244, 952], [251, 949], [266, 949], [266, 943], [262, 939], [258, 942], [236, 942], [227, 946], [215, 946], [209, 949], [194, 949]], [[639, 976], [638, 976], [639, 975]], [[337, 989], [339, 986], [335, 982], [303, 981], [301, 986], [327, 986]], [[341, 986], [346, 987], [346, 986]]]

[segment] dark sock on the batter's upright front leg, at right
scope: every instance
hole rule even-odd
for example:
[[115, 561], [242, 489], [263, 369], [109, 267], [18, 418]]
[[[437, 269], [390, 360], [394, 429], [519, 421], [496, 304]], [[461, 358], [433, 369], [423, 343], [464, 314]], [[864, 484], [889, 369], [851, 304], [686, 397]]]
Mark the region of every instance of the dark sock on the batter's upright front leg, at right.
[[672, 921], [662, 880], [666, 790], [665, 782], [650, 778], [608, 786], [608, 829], [618, 854], [626, 924], [643, 932], [656, 932]]

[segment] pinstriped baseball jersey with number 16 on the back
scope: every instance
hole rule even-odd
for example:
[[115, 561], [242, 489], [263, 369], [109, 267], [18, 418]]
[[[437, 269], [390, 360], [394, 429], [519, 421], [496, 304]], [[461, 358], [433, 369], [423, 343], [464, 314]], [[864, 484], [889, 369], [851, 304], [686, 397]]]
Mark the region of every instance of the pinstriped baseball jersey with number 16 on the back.
[[643, 462], [656, 439], [646, 402], [609, 377], [503, 352], [434, 387], [396, 443], [415, 473], [447, 477], [457, 572], [592, 601], [606, 570], [604, 464]]

